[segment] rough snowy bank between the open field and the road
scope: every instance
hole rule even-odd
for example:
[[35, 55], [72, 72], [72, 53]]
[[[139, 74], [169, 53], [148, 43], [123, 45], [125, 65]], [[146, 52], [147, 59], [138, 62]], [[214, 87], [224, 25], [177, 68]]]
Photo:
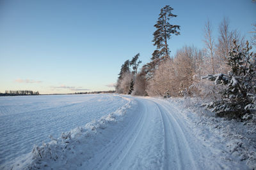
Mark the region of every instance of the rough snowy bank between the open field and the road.
[[133, 108], [136, 108], [136, 102], [132, 99], [122, 98], [128, 103], [113, 113], [84, 127], [63, 132], [60, 138], [54, 139], [49, 136], [49, 143], [34, 146], [30, 153], [8, 162], [3, 169], [77, 169], [115, 137], [120, 129], [118, 127], [125, 125], [126, 117], [132, 113]]

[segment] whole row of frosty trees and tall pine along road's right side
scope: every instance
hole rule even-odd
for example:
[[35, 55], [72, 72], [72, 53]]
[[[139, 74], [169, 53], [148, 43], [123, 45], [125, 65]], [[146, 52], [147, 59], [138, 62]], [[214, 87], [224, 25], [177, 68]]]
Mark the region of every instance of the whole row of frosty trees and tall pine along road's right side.
[[[154, 32], [156, 50], [150, 62], [138, 68], [140, 53], [122, 64], [116, 92], [137, 96], [200, 97], [217, 115], [252, 118], [256, 110], [256, 55], [252, 46], [223, 18], [214, 38], [208, 20], [204, 27], [204, 48], [183, 46], [170, 57], [168, 40], [179, 35], [180, 26], [170, 24], [173, 8], [161, 9]], [[251, 43], [256, 45], [256, 24]], [[255, 50], [255, 48], [254, 48]], [[210, 81], [209, 81], [210, 80]]]

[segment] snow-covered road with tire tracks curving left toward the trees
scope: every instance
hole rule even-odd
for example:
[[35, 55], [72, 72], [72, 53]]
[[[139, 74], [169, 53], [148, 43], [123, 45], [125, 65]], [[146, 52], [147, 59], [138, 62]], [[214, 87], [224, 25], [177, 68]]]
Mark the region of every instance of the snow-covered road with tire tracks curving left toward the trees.
[[81, 169], [197, 169], [170, 104], [136, 98], [130, 123]]

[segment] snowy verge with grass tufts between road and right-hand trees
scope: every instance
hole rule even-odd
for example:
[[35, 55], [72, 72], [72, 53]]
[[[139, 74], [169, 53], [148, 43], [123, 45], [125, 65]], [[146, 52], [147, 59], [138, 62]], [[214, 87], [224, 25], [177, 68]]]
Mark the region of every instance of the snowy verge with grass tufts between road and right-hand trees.
[[248, 169], [256, 169], [255, 120], [239, 122], [214, 117], [214, 113], [200, 107], [202, 101], [193, 98], [170, 98], [167, 101], [182, 113], [193, 128], [194, 135], [205, 146], [212, 148], [212, 152], [224, 153], [225, 157], [221, 159], [241, 162]]

